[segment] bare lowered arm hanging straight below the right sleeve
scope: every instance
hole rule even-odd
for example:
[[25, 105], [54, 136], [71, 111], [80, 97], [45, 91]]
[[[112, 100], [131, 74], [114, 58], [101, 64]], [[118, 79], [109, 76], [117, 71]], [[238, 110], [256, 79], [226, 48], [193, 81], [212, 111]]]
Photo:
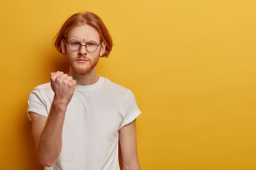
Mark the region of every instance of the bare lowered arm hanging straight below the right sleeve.
[[119, 130], [123, 170], [140, 170], [135, 123], [136, 119]]

